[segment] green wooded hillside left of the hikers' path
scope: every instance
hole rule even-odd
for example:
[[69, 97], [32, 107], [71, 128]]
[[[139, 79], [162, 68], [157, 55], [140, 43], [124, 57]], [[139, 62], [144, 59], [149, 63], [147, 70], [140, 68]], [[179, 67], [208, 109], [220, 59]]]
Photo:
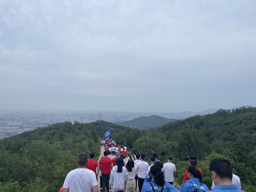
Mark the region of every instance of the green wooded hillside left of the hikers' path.
[[100, 155], [102, 133], [125, 128], [109, 122], [58, 123], [0, 140], [1, 192], [56, 192], [77, 167], [80, 152]]

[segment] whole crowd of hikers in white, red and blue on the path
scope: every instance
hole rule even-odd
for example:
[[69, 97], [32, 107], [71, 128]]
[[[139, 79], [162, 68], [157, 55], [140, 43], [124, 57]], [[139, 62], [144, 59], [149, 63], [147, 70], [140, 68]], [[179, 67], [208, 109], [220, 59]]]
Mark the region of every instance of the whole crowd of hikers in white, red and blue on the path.
[[[78, 155], [78, 168], [70, 171], [60, 192], [205, 192], [209, 188], [202, 182], [203, 171], [196, 166], [197, 160], [190, 157], [188, 170], [184, 173], [179, 189], [173, 186], [176, 166], [172, 157], [164, 164], [152, 151], [150, 162], [144, 154], [133, 154], [112, 139], [102, 139], [104, 157], [99, 162], [95, 154]], [[210, 162], [212, 190], [214, 192], [244, 192], [238, 176], [232, 173], [232, 166], [227, 159], [215, 158]]]

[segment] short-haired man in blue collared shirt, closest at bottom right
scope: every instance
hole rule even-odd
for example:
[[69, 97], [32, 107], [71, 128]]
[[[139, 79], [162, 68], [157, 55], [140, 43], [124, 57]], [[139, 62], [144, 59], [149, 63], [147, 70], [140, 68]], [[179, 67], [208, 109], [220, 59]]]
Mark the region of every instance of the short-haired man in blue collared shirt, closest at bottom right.
[[232, 185], [232, 166], [227, 159], [215, 158], [210, 162], [212, 180], [216, 184], [214, 192], [244, 192]]

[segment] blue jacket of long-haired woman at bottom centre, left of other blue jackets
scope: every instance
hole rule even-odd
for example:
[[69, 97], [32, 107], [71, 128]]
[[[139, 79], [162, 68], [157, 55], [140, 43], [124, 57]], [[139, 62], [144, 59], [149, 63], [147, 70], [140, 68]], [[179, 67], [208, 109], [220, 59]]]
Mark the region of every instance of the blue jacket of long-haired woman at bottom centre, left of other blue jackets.
[[[154, 186], [154, 190], [156, 192], [160, 192], [161, 191], [162, 187], [158, 186], [155, 183], [154, 178], [152, 178], [151, 183]], [[143, 184], [141, 192], [152, 192], [152, 191], [153, 190], [152, 190], [152, 187], [150, 186], [149, 182], [146, 182], [146, 183]], [[174, 186], [172, 186], [170, 183], [165, 182], [163, 192], [180, 192], [180, 191], [178, 189], [176, 189]]]

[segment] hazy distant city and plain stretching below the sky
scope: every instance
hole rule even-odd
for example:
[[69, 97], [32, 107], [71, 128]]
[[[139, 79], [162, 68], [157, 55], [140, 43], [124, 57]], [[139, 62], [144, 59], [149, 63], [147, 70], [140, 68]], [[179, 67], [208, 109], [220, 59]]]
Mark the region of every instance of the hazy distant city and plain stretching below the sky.
[[108, 122], [124, 122], [140, 116], [158, 115], [165, 118], [184, 119], [197, 114], [204, 115], [213, 113], [215, 110], [204, 112], [182, 112], [182, 113], [132, 113], [132, 112], [87, 112], [87, 113], [64, 113], [64, 112], [0, 112], [0, 139], [14, 136], [25, 131], [35, 130], [42, 126], [59, 122], [90, 123], [97, 120]]

